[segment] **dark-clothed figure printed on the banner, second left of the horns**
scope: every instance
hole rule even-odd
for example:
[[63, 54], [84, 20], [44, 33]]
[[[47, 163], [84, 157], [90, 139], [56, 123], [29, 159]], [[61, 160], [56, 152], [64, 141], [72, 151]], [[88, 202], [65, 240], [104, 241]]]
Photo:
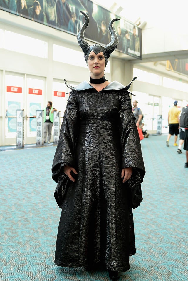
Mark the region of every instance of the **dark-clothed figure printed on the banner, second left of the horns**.
[[68, 23], [71, 19], [71, 11], [68, 2], [66, 0], [57, 0], [56, 11], [57, 11], [58, 27], [67, 30]]

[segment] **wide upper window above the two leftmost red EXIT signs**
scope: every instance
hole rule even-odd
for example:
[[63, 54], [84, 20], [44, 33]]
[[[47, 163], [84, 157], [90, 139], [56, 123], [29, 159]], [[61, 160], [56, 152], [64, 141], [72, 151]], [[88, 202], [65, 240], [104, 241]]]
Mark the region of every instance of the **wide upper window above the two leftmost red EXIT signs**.
[[7, 30], [4, 34], [4, 48], [31, 56], [47, 58], [46, 42]]

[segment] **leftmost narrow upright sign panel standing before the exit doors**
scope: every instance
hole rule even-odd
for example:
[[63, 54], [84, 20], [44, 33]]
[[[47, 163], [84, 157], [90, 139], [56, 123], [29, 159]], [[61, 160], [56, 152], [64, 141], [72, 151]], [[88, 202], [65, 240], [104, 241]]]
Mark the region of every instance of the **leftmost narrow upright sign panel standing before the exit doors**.
[[16, 145], [24, 147], [24, 109], [16, 110]]

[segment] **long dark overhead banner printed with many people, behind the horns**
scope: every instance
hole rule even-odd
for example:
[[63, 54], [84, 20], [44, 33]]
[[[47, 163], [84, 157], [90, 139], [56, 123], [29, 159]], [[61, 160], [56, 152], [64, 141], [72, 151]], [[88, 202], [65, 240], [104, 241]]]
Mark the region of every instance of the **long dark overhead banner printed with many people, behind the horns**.
[[[0, 0], [0, 9], [75, 36], [84, 22], [80, 11], [84, 11], [90, 19], [85, 38], [100, 44], [110, 42], [108, 24], [120, 18], [90, 0]], [[123, 18], [113, 27], [119, 39], [117, 51], [142, 59], [142, 30]]]

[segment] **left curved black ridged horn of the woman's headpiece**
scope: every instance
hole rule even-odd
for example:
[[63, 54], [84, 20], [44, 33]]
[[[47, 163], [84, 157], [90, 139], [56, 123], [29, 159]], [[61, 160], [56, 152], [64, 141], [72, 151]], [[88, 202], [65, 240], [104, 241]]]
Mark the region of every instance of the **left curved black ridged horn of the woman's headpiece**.
[[84, 38], [84, 31], [88, 27], [89, 17], [83, 11], [80, 11], [80, 13], [82, 13], [84, 15], [85, 21], [84, 21], [83, 26], [80, 28], [80, 31], [78, 32], [77, 40], [78, 40], [78, 44], [79, 44], [80, 48], [82, 49], [82, 51], [84, 53], [84, 57], [86, 57], [88, 50], [91, 47], [90, 44]]

